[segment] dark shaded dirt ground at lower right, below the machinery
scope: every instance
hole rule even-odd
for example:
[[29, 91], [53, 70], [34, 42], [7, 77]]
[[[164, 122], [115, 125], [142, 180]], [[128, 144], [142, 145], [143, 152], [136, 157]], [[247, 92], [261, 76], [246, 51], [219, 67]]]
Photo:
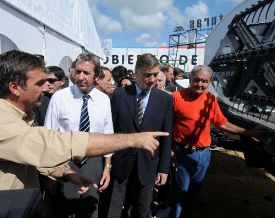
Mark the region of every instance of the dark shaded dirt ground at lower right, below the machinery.
[[194, 217], [275, 217], [275, 177], [240, 151], [212, 150]]

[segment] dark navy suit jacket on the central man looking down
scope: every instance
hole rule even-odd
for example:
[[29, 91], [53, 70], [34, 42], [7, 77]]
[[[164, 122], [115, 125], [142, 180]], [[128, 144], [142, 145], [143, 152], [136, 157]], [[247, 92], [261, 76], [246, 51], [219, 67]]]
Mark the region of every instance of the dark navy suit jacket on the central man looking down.
[[[116, 88], [111, 99], [114, 132], [166, 131], [167, 137], [157, 137], [160, 145], [154, 155], [147, 150], [127, 148], [112, 156], [112, 174], [124, 180], [130, 175], [137, 158], [137, 173], [143, 185], [154, 182], [157, 172], [168, 173], [172, 142], [173, 105], [168, 93], [155, 87], [151, 89], [148, 104], [139, 126], [135, 84]], [[121, 138], [123, 140], [123, 138]]]

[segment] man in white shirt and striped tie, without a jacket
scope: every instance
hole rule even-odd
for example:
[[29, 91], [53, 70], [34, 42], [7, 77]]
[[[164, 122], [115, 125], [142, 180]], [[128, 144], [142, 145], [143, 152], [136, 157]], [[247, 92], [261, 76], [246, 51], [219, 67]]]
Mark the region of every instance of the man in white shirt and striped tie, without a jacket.
[[[99, 58], [91, 53], [79, 54], [74, 70], [75, 84], [55, 92], [51, 97], [46, 113], [45, 127], [59, 132], [79, 130], [83, 96], [87, 95], [87, 119], [89, 120], [89, 129], [87, 130], [97, 133], [113, 133], [109, 98], [103, 92], [93, 88], [94, 78], [100, 72]], [[70, 162], [69, 165], [99, 184], [98, 190], [101, 192], [107, 187], [110, 180], [111, 155], [104, 155], [104, 164], [102, 156], [98, 156], [87, 160], [84, 158], [83, 164]], [[99, 193], [96, 189], [90, 188], [87, 193], [79, 196], [75, 185], [64, 184], [63, 194], [65, 199], [61, 204], [64, 207], [60, 209], [62, 217], [70, 217], [74, 214], [77, 217], [97, 217]]]

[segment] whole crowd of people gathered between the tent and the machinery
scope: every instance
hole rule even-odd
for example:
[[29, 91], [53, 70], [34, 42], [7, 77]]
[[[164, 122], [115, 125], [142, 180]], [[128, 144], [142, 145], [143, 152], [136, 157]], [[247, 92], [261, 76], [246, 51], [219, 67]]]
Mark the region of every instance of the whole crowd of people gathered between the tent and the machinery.
[[227, 121], [206, 90], [206, 65], [191, 70], [187, 88], [175, 82], [182, 69], [150, 53], [127, 70], [84, 52], [68, 72], [22, 51], [0, 54], [0, 189], [38, 187], [37, 170], [45, 217], [145, 218], [155, 187], [170, 217], [192, 217], [210, 124], [264, 131]]

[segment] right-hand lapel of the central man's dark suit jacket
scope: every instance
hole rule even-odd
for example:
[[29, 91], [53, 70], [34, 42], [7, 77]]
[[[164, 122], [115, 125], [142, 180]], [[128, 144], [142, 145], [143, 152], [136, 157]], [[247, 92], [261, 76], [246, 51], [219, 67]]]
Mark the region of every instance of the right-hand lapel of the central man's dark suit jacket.
[[150, 119], [150, 116], [157, 110], [158, 106], [161, 104], [158, 102], [159, 96], [156, 91], [156, 88], [153, 87], [150, 92], [149, 100], [143, 115], [142, 126], [144, 127], [147, 121]]

